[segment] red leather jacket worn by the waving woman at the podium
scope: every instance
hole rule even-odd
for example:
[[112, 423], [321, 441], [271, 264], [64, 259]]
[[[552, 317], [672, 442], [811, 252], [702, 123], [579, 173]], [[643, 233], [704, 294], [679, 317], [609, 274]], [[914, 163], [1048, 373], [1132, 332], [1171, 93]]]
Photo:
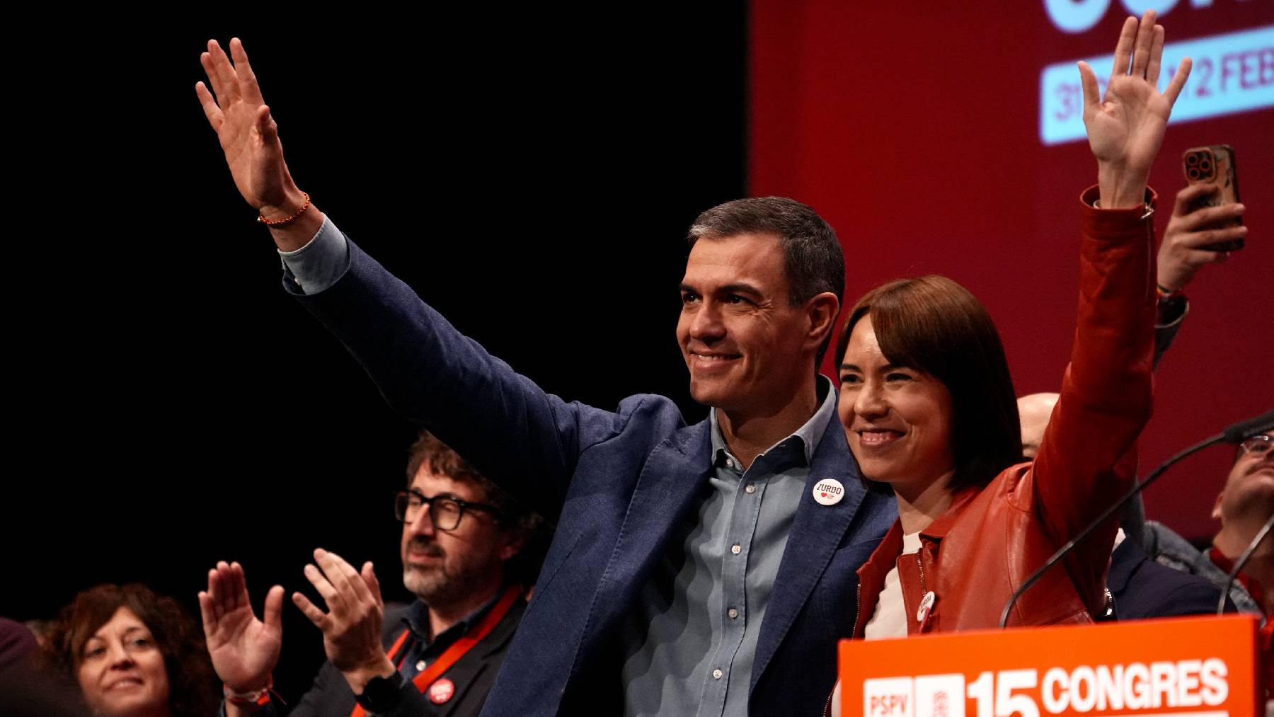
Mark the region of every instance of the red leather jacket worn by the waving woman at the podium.
[[[1131, 488], [1136, 437], [1150, 418], [1153, 224], [1140, 208], [1094, 209], [1096, 199], [1097, 187], [1080, 196], [1078, 329], [1038, 456], [986, 488], [958, 493], [920, 532], [919, 554], [899, 555], [896, 521], [859, 569], [854, 637], [862, 637], [896, 564], [908, 634], [995, 629], [1013, 591]], [[1023, 593], [1009, 625], [1091, 621], [1105, 605], [1115, 531], [1111, 520]], [[936, 601], [921, 625], [917, 609], [927, 591]]]

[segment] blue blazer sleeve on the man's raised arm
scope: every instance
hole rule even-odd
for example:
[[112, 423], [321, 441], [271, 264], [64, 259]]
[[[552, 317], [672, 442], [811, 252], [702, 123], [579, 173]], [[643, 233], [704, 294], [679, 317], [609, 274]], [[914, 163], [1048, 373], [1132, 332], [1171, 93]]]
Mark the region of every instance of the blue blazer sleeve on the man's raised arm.
[[349, 261], [317, 294], [302, 294], [287, 275], [283, 285], [341, 340], [395, 411], [555, 520], [580, 451], [614, 436], [620, 416], [545, 394], [354, 242]]

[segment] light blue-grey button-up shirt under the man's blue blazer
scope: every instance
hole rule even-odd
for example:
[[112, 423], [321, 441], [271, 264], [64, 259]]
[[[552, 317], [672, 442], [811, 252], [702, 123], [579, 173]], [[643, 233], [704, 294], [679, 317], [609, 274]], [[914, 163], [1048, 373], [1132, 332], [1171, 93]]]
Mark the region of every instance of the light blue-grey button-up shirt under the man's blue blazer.
[[[685, 537], [655, 564], [624, 624], [624, 713], [747, 717], [752, 661], [810, 457], [836, 420], [832, 382], [805, 425], [744, 471], [712, 410], [712, 465]], [[828, 635], [834, 639], [834, 635]]]

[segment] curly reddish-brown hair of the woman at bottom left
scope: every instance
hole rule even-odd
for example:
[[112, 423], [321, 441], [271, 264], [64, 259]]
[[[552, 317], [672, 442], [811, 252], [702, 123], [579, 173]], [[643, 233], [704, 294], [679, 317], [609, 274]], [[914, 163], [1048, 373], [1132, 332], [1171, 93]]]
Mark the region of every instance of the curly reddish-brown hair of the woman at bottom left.
[[220, 695], [204, 630], [176, 600], [140, 583], [90, 587], [62, 607], [43, 646], [48, 667], [78, 686], [84, 644], [120, 607], [127, 607], [145, 624], [163, 655], [168, 704], [175, 717], [215, 714]]

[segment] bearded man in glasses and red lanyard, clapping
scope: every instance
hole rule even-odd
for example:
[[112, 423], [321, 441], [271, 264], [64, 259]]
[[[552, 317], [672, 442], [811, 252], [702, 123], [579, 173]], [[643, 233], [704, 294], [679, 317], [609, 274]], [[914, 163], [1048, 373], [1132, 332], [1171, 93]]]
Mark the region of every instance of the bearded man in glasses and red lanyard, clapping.
[[[355, 572], [316, 550], [306, 577], [329, 613], [299, 592], [293, 602], [322, 630], [329, 662], [290, 714], [482, 711], [539, 571], [543, 521], [428, 432], [412, 446], [394, 513], [403, 522], [403, 585], [417, 600], [385, 609], [371, 563]], [[270, 590], [262, 623], [252, 615], [243, 569], [220, 563], [199, 600], [227, 717], [271, 713], [283, 588]]]

